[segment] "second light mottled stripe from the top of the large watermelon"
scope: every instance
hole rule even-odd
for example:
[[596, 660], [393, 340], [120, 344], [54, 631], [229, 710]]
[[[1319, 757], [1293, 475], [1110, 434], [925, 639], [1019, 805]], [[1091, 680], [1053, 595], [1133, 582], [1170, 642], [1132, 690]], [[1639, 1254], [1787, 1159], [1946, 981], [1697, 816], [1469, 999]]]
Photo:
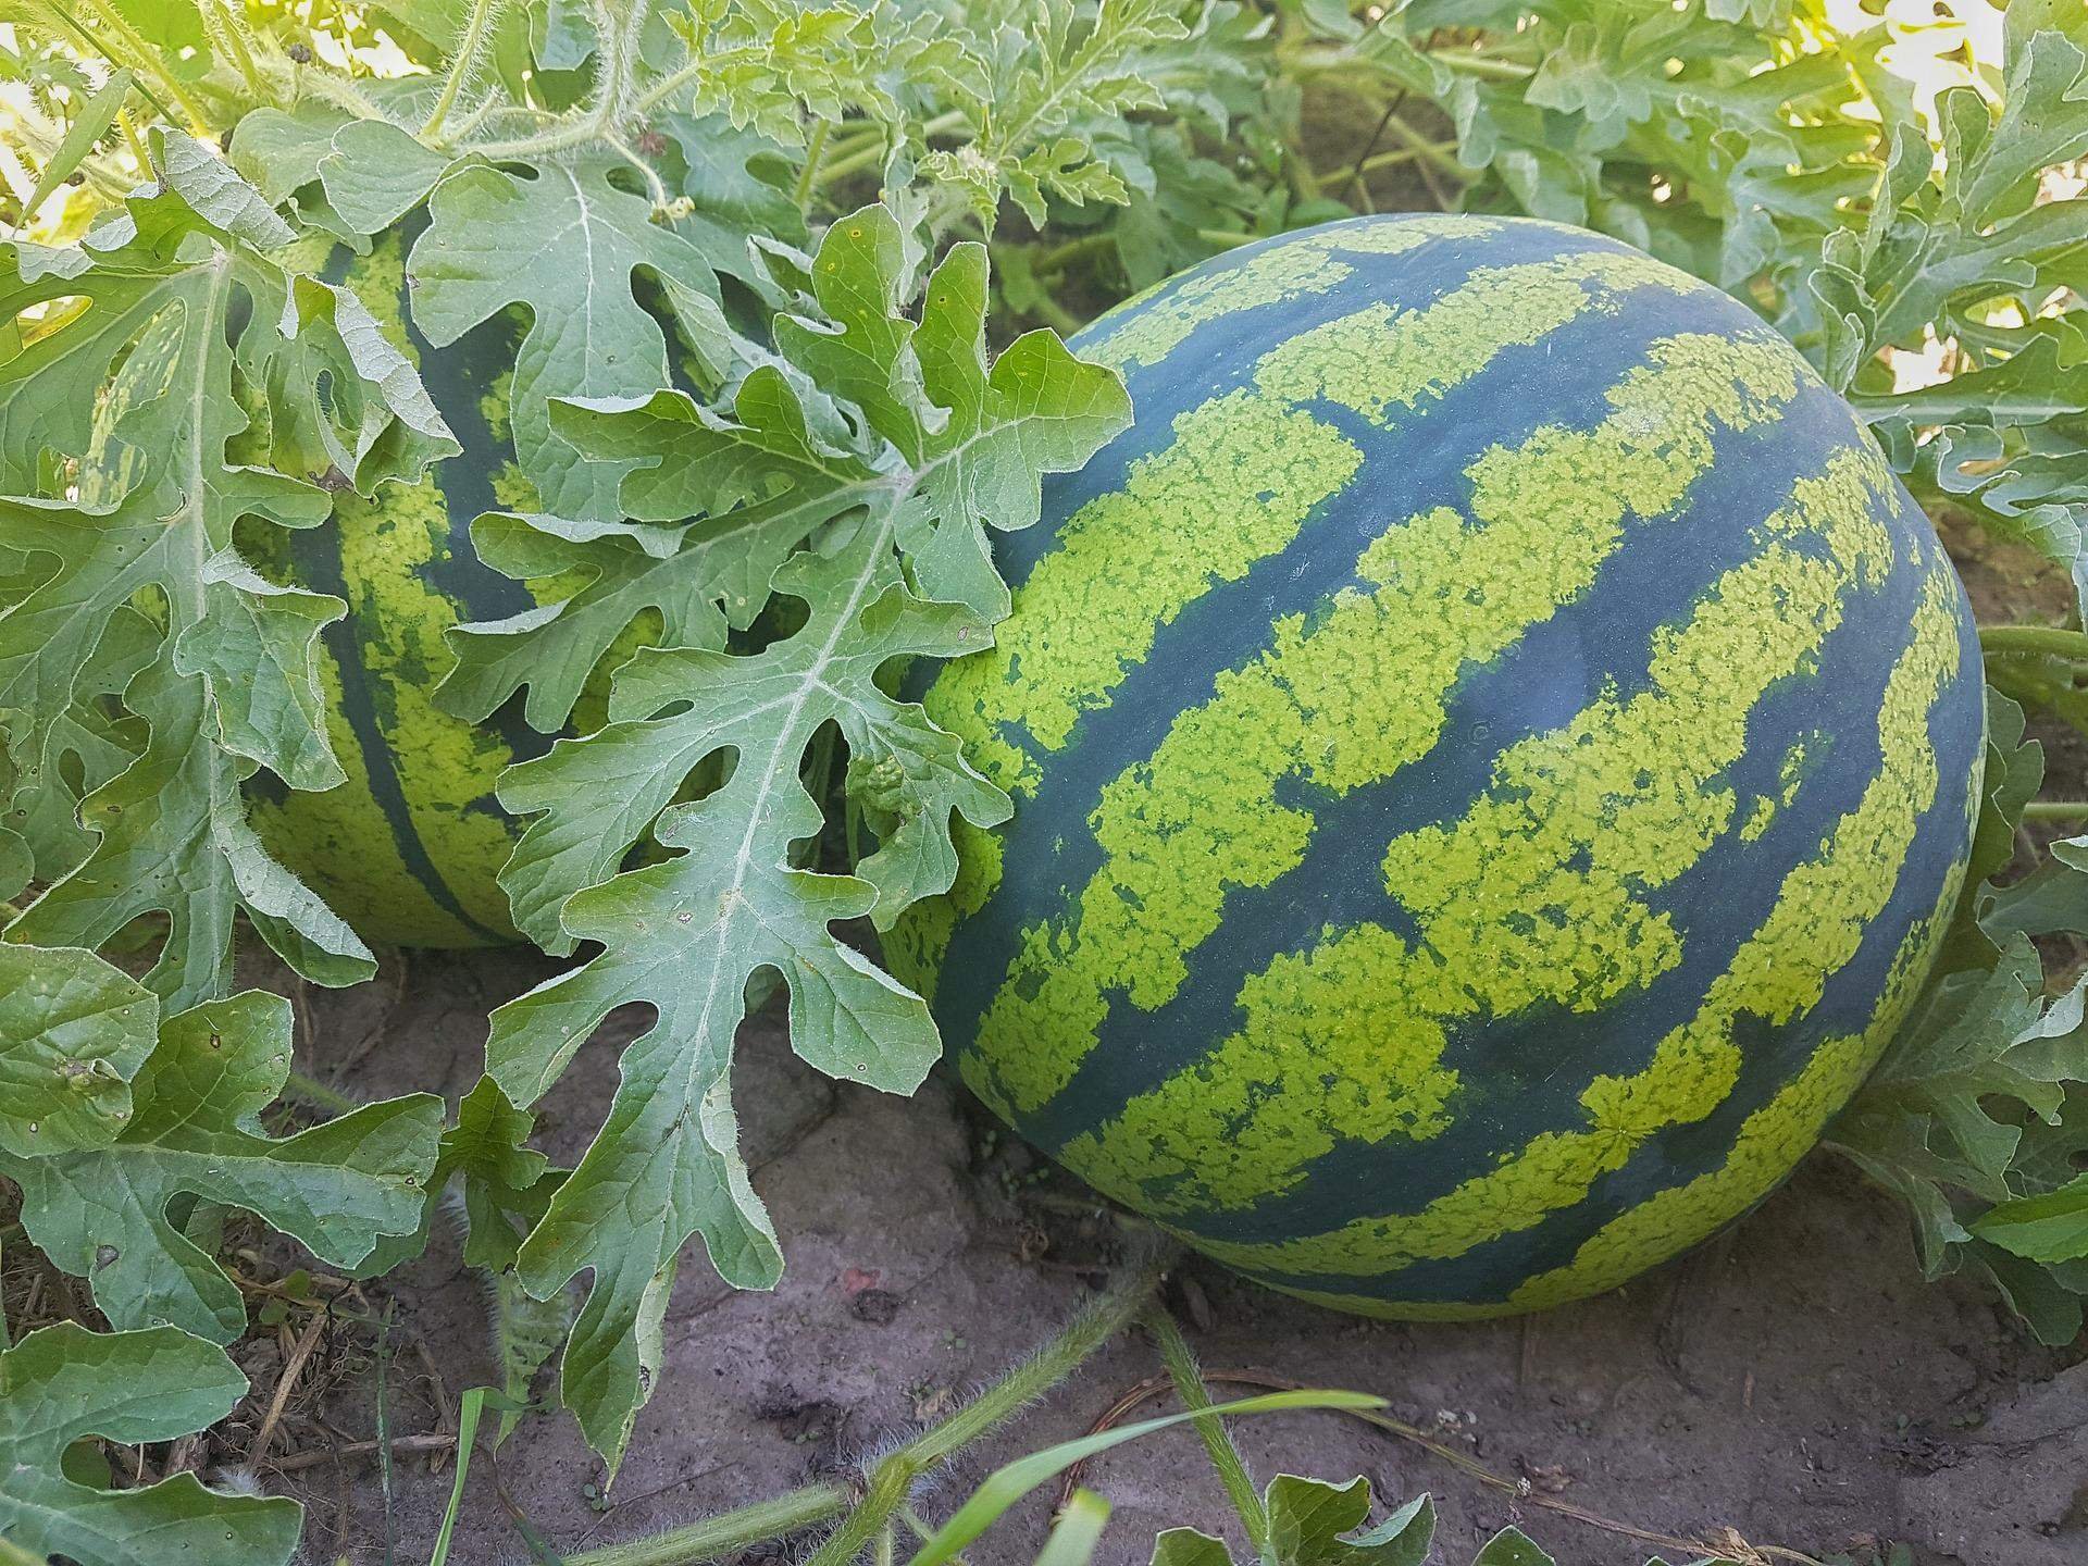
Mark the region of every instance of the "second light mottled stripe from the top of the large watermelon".
[[1426, 309], [1372, 305], [1297, 334], [1261, 355], [1253, 386], [1176, 418], [1173, 441], [1134, 461], [1123, 489], [1067, 518], [992, 651], [946, 668], [929, 712], [1000, 787], [1031, 791], [1038, 764], [1002, 731], [1044, 750], [1065, 745], [1079, 714], [1109, 706], [1144, 662], [1159, 626], [1288, 547], [1311, 509], [1357, 474], [1361, 453], [1301, 403], [1324, 399], [1393, 424], [1505, 349], [1587, 311], [1614, 311], [1635, 288], [1691, 286], [1643, 255], [1585, 251], [1478, 269]]

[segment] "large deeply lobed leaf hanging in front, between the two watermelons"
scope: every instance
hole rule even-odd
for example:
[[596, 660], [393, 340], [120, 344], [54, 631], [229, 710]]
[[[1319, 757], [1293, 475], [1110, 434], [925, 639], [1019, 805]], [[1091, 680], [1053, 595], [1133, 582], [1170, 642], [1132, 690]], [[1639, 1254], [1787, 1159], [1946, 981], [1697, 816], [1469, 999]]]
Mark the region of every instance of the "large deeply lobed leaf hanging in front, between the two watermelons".
[[[777, 326], [787, 365], [856, 409], [850, 447], [821, 438], [781, 365], [748, 376], [733, 418], [656, 393], [576, 403], [553, 420], [589, 455], [628, 468], [628, 514], [647, 524], [697, 518], [693, 547], [662, 566], [685, 562], [714, 601], [722, 587], [708, 576], [708, 528], [760, 532], [756, 557], [816, 543], [770, 568], [775, 591], [806, 606], [798, 631], [750, 656], [641, 651], [616, 674], [603, 729], [557, 741], [501, 785], [503, 804], [530, 816], [503, 873], [518, 923], [551, 950], [599, 942], [601, 952], [495, 1011], [493, 1079], [516, 1102], [535, 1102], [610, 1011], [631, 1000], [658, 1011], [624, 1052], [601, 1136], [520, 1257], [539, 1295], [580, 1267], [595, 1272], [566, 1351], [566, 1401], [612, 1462], [645, 1380], [633, 1334], [683, 1242], [704, 1234], [714, 1265], [741, 1286], [768, 1286], [781, 1270], [729, 1107], [748, 983], [764, 971], [783, 977], [793, 1046], [831, 1075], [910, 1092], [940, 1052], [923, 1000], [831, 931], [862, 915], [885, 921], [946, 889], [956, 869], [952, 810], [975, 825], [1006, 814], [1004, 796], [965, 764], [956, 741], [877, 683], [894, 660], [988, 645], [988, 614], [1004, 612], [1004, 589], [981, 570], [923, 570], [996, 589], [981, 595], [986, 612], [927, 599], [906, 580], [904, 549], [983, 560], [983, 522], [1034, 522], [1042, 474], [1079, 466], [1128, 416], [1115, 376], [1048, 334], [1021, 338], [988, 370], [979, 246], [958, 246], [935, 271], [919, 324], [902, 313], [921, 288], [912, 265], [900, 221], [864, 209], [839, 221], [816, 257], [827, 324]], [[760, 591], [766, 597], [766, 580]], [[568, 606], [562, 612], [578, 612]], [[461, 641], [474, 635], [484, 628]], [[578, 664], [555, 662], [564, 685], [553, 706], [570, 699]], [[484, 662], [468, 668], [474, 708], [503, 695], [499, 681], [482, 681]], [[846, 739], [864, 789], [875, 773], [892, 823], [894, 852], [856, 875], [791, 860], [823, 825], [800, 773], [827, 725]], [[691, 775], [725, 752], [731, 777], [677, 804]], [[666, 858], [618, 873], [647, 835]], [[610, 1209], [654, 1219], [610, 1226]]]

